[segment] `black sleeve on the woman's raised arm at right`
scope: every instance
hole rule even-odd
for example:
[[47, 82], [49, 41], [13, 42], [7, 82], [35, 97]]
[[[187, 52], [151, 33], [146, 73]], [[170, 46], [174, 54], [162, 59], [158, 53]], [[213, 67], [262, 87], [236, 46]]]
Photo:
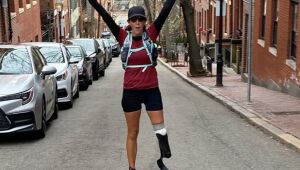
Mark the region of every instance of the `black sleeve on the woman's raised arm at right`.
[[163, 24], [165, 23], [166, 19], [168, 18], [168, 15], [170, 14], [172, 7], [174, 5], [176, 0], [167, 0], [164, 3], [163, 8], [161, 9], [158, 17], [154, 21], [154, 26], [157, 30], [157, 32], [160, 32]]

